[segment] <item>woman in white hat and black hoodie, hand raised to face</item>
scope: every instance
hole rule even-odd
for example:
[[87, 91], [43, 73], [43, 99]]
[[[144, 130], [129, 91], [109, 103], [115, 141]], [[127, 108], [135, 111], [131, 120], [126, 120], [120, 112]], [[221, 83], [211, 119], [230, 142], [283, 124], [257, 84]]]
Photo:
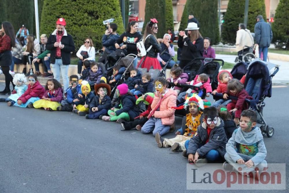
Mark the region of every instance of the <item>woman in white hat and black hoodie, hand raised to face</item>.
[[179, 67], [184, 68], [194, 58], [203, 57], [204, 39], [199, 32], [197, 23], [189, 23], [188, 35], [184, 31], [179, 32], [178, 46], [181, 48], [181, 62]]

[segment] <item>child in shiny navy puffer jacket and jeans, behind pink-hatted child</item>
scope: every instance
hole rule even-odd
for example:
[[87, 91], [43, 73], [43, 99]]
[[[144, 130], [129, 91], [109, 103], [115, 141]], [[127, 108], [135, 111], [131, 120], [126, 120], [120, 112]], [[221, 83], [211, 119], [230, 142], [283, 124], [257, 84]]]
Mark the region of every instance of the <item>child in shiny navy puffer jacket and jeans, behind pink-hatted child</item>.
[[144, 73], [142, 79], [135, 80], [134, 84], [134, 89], [130, 90], [130, 93], [133, 95], [143, 95], [144, 93], [152, 93], [154, 91], [150, 73]]

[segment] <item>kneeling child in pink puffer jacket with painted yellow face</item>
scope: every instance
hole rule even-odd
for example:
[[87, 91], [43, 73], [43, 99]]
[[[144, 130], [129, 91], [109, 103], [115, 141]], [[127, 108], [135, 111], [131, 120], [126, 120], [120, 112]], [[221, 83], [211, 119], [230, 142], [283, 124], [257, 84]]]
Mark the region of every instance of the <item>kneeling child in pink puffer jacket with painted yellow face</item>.
[[170, 126], [175, 122], [175, 109], [177, 92], [167, 89], [168, 82], [164, 78], [155, 80], [155, 97], [151, 104], [151, 112], [147, 117], [149, 120], [142, 126], [144, 134], [153, 132], [153, 136], [159, 133], [160, 136], [168, 133]]

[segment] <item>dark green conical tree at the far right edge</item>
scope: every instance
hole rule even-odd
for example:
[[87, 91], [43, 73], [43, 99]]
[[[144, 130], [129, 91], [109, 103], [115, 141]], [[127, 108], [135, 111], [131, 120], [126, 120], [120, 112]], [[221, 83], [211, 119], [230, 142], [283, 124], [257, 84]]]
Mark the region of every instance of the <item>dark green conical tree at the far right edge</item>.
[[273, 42], [289, 49], [289, 0], [280, 0], [272, 23]]

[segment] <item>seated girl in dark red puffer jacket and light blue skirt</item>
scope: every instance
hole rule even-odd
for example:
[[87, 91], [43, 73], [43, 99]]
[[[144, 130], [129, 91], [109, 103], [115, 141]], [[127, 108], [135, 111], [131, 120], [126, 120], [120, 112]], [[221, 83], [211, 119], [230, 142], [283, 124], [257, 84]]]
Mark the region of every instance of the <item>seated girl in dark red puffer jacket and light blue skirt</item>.
[[33, 108], [33, 103], [40, 100], [44, 95], [45, 89], [37, 80], [37, 76], [32, 74], [28, 76], [28, 89], [25, 91], [21, 97], [18, 98], [17, 102], [10, 101], [8, 106], [19, 106], [19, 107], [28, 107]]

